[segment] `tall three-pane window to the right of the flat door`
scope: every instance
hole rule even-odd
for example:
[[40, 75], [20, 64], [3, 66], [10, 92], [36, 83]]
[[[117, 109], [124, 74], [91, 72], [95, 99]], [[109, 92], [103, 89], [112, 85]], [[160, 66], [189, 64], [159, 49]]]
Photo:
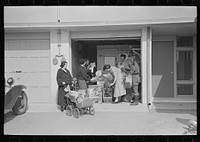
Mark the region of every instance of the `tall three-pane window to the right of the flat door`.
[[179, 96], [193, 95], [193, 37], [178, 36], [176, 40], [176, 89]]

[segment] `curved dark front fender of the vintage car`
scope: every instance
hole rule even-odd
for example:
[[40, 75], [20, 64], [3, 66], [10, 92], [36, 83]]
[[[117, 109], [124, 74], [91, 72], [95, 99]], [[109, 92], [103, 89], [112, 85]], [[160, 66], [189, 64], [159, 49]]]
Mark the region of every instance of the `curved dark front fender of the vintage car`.
[[24, 85], [15, 85], [6, 93], [4, 110], [9, 111], [12, 109], [24, 89], [26, 89]]

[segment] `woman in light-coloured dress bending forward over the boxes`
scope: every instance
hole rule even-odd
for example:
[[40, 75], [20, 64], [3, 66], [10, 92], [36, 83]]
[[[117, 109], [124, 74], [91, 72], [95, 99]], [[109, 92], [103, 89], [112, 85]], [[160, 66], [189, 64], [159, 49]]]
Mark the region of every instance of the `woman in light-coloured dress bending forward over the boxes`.
[[114, 103], [118, 103], [119, 97], [126, 94], [126, 89], [123, 81], [123, 74], [121, 73], [121, 70], [119, 68], [114, 66], [105, 65], [104, 69], [112, 72], [115, 76], [113, 83], [111, 83], [109, 86], [114, 85], [114, 97], [115, 97]]

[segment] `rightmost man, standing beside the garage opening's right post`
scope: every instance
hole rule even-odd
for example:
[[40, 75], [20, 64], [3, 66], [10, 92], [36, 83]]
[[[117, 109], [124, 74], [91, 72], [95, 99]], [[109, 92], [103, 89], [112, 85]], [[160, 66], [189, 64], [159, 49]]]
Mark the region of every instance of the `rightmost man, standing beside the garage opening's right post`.
[[131, 99], [131, 105], [138, 105], [139, 92], [138, 84], [140, 83], [140, 68], [135, 60], [135, 53], [131, 51], [129, 53], [129, 58], [125, 62], [125, 70], [132, 75], [132, 91], [133, 96]]

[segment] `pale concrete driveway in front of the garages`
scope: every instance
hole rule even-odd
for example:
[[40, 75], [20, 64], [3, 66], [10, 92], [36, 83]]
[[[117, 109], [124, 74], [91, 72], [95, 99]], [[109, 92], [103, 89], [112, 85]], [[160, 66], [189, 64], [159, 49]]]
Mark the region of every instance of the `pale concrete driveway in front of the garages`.
[[[114, 106], [117, 104], [110, 105], [117, 107]], [[86, 114], [78, 119], [60, 111], [27, 112], [21, 116], [14, 116], [10, 112], [5, 115], [4, 134], [196, 135], [187, 133], [188, 121], [197, 119], [196, 112], [99, 111], [98, 109], [100, 107], [96, 107], [94, 116]]]

